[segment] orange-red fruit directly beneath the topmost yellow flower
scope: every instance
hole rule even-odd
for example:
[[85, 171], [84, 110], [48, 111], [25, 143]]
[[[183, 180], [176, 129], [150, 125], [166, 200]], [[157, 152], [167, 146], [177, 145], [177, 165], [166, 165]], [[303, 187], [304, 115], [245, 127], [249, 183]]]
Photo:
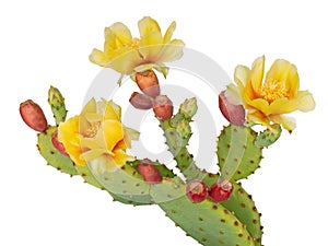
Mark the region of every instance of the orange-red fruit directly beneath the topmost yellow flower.
[[160, 85], [156, 73], [153, 70], [136, 73], [136, 82], [139, 89], [147, 95], [155, 97], [160, 95]]

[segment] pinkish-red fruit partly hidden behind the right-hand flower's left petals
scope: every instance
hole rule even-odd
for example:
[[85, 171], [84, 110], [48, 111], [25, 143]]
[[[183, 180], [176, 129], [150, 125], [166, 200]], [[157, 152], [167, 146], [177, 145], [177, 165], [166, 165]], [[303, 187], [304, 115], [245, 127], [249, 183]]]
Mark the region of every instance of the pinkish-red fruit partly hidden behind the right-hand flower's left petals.
[[219, 95], [219, 107], [222, 115], [233, 125], [243, 126], [245, 122], [245, 108], [243, 105], [235, 105], [227, 101], [225, 91]]

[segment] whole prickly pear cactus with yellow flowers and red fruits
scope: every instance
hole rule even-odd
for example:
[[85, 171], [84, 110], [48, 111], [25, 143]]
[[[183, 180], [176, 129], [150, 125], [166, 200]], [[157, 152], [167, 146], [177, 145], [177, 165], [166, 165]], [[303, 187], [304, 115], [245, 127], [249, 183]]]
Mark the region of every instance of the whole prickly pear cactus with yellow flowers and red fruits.
[[[140, 22], [144, 25], [152, 23], [150, 30], [156, 26], [151, 17], [144, 17]], [[168, 44], [174, 28], [175, 23], [167, 32], [169, 35], [164, 36], [165, 45]], [[161, 33], [156, 35], [162, 36]], [[113, 38], [112, 36], [115, 35], [106, 35], [106, 38]], [[106, 39], [105, 44], [117, 42], [121, 43]], [[175, 43], [179, 44], [179, 40], [175, 39]], [[133, 43], [133, 49], [134, 46], [138, 48], [138, 42]], [[155, 52], [155, 49], [152, 51]], [[159, 57], [165, 57], [165, 52], [173, 51], [168, 57], [181, 56], [181, 50], [166, 46], [160, 51]], [[98, 59], [120, 54], [117, 50], [107, 54], [108, 56], [99, 56], [99, 50], [94, 52], [96, 54], [92, 54], [91, 60], [106, 67], [110, 67], [110, 62]], [[143, 52], [139, 50], [138, 54]], [[129, 67], [127, 65], [133, 63], [120, 58], [116, 66], [124, 67], [113, 67], [119, 72], [126, 71]], [[237, 67], [236, 85], [229, 85], [226, 91], [218, 95], [220, 110], [230, 125], [223, 127], [218, 137], [219, 172], [209, 173], [198, 166], [188, 150], [192, 134], [191, 122], [198, 110], [197, 98], [184, 98], [174, 114], [173, 102], [167, 95], [161, 94], [159, 79], [153, 71], [155, 69], [166, 78], [168, 68], [162, 62], [149, 63], [150, 60], [144, 57], [140, 59], [145, 60], [132, 69], [132, 74], [128, 74], [140, 92], [133, 92], [129, 102], [138, 109], [153, 110], [168, 151], [176, 162], [174, 169], [168, 168], [165, 163], [149, 159], [138, 160], [128, 153], [127, 149], [132, 147], [131, 140], [138, 140], [139, 132], [121, 122], [121, 109], [113, 101], [102, 99], [96, 103], [92, 98], [80, 115], [66, 119], [68, 110], [65, 98], [54, 86], [48, 92], [48, 103], [55, 117], [54, 126], [48, 126], [40, 107], [34, 102], [26, 101], [20, 107], [24, 122], [40, 131], [37, 134], [40, 155], [56, 169], [71, 176], [80, 175], [86, 184], [106, 190], [115, 201], [132, 206], [159, 206], [167, 218], [201, 245], [261, 246], [261, 214], [239, 180], [249, 177], [259, 168], [263, 157], [262, 149], [269, 148], [280, 138], [282, 127], [290, 132], [295, 127], [293, 120], [281, 115], [291, 108], [297, 108], [293, 103], [298, 103], [300, 99], [297, 97], [295, 102], [292, 101], [292, 96], [297, 94], [292, 90], [298, 90], [298, 81], [295, 81], [297, 86], [291, 86], [291, 81], [280, 81], [284, 79], [280, 73], [288, 74], [293, 66], [285, 65], [285, 60], [277, 61], [278, 70], [285, 69], [285, 73], [280, 71], [276, 74], [277, 78], [270, 74], [273, 79], [270, 78], [265, 84], [253, 81], [262, 77], [255, 74], [258, 72], [256, 68], [263, 63], [263, 57], [255, 61], [254, 71]], [[294, 75], [295, 71], [292, 74], [291, 78], [298, 78]], [[278, 91], [280, 87], [291, 91], [282, 93]], [[289, 96], [282, 98], [284, 95]], [[312, 95], [308, 93], [305, 97], [311, 105], [305, 107], [300, 104], [298, 109], [313, 109]], [[279, 102], [276, 103], [276, 99]], [[289, 105], [288, 109], [277, 107], [276, 104], [280, 105], [289, 99], [290, 104], [285, 103]], [[265, 129], [257, 131], [254, 129], [255, 125], [265, 126]]]

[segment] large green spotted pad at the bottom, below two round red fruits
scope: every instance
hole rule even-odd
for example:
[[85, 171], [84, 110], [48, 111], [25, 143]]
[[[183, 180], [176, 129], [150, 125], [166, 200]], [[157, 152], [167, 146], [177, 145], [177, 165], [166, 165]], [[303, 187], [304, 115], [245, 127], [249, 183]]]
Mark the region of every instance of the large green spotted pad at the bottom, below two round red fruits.
[[159, 204], [188, 236], [204, 246], [254, 246], [245, 225], [219, 203], [192, 203], [186, 196]]

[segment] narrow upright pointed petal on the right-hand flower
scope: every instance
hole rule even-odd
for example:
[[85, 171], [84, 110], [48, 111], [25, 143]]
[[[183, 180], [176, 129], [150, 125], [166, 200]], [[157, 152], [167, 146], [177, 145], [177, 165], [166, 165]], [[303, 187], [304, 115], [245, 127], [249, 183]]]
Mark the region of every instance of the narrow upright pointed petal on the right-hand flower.
[[257, 58], [251, 66], [250, 82], [256, 96], [260, 95], [265, 73], [265, 56]]

